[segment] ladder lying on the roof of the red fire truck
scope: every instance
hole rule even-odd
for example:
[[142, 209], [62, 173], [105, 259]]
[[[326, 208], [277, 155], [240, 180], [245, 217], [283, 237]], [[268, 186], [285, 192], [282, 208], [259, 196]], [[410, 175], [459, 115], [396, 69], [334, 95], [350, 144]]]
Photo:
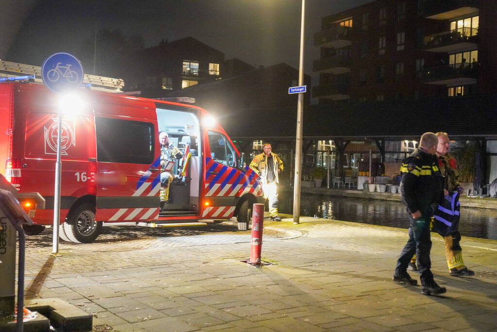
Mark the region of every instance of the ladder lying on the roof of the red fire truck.
[[[35, 75], [34, 82], [43, 83], [41, 67], [0, 60], [0, 77], [15, 77], [19, 76], [19, 74]], [[84, 74], [82, 85], [89, 86], [92, 90], [122, 92], [124, 81], [122, 79]]]

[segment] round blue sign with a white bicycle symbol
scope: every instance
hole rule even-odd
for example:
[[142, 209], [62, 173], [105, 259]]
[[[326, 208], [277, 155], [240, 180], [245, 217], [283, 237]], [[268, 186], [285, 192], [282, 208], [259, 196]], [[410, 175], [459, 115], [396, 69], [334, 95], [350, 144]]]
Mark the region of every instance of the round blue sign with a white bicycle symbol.
[[83, 66], [74, 55], [55, 53], [41, 65], [43, 84], [54, 92], [77, 89], [83, 82]]

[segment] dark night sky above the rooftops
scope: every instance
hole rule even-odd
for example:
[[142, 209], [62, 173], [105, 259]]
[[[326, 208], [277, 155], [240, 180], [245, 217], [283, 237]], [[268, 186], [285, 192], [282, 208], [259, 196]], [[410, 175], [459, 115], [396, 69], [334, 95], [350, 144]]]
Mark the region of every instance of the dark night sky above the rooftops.
[[[307, 74], [311, 74], [312, 61], [319, 58], [313, 36], [320, 30], [321, 18], [370, 1], [306, 1]], [[0, 43], [6, 41], [0, 46], [2, 60], [41, 66], [55, 52], [71, 52], [78, 57], [83, 41], [93, 36], [96, 20], [99, 28], [119, 28], [128, 36], [141, 34], [146, 47], [157, 45], [163, 38], [172, 41], [192, 36], [224, 52], [226, 59], [237, 57], [256, 66], [285, 62], [298, 68], [299, 0], [0, 0], [0, 3], [3, 4], [0, 18], [10, 17], [12, 22], [12, 16], [23, 12], [25, 15], [16, 17], [16, 24], [9, 26], [0, 20]]]

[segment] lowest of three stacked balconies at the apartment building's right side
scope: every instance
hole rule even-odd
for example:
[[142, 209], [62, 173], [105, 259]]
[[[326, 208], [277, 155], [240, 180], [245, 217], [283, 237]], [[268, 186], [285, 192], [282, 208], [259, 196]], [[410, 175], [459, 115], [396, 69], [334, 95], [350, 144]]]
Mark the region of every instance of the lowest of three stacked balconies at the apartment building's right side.
[[478, 64], [455, 64], [426, 68], [421, 72], [421, 81], [427, 84], [448, 86], [475, 84], [479, 71]]

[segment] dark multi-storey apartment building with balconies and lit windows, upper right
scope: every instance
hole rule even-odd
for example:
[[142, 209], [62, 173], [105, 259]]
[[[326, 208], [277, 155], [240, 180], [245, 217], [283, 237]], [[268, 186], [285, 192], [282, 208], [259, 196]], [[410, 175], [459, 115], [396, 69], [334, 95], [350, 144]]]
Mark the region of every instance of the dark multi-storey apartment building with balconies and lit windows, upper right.
[[495, 93], [497, 1], [376, 0], [322, 19], [320, 104]]

